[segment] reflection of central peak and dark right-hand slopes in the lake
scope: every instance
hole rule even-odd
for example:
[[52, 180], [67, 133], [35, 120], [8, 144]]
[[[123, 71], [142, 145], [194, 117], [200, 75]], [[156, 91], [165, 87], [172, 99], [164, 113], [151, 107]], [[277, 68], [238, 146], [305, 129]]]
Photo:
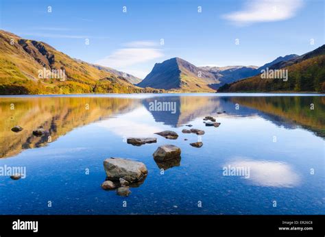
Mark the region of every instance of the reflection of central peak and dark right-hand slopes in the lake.
[[[154, 101], [176, 103], [176, 113], [149, 109]], [[311, 110], [311, 104], [314, 110]], [[260, 116], [275, 125], [302, 126], [325, 137], [325, 97], [191, 97], [169, 96], [143, 99], [156, 122], [180, 127], [202, 116]], [[218, 114], [218, 112], [226, 112]]]

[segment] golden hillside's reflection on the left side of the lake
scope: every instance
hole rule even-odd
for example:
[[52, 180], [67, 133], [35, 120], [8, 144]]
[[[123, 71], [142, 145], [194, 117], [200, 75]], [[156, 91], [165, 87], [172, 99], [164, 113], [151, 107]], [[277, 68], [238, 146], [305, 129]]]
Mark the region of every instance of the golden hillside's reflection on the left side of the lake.
[[[0, 158], [17, 155], [23, 149], [43, 147], [75, 127], [87, 125], [112, 114], [132, 110], [133, 99], [87, 97], [1, 98]], [[14, 133], [15, 125], [23, 131]], [[43, 127], [49, 136], [33, 136]]]

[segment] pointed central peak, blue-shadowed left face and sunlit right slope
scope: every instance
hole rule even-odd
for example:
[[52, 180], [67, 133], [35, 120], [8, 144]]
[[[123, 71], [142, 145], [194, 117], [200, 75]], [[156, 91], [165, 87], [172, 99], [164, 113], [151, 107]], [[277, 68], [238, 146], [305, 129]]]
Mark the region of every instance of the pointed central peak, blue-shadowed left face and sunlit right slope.
[[152, 71], [137, 86], [184, 92], [215, 92], [209, 85], [217, 83], [219, 81], [213, 73], [204, 71], [181, 58], [171, 58], [156, 63]]

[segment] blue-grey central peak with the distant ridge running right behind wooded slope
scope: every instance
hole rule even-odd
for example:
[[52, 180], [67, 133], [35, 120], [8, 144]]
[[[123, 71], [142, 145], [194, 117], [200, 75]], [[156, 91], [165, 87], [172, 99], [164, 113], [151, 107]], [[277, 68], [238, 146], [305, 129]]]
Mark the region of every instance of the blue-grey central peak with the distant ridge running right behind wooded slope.
[[175, 92], [215, 92], [221, 86], [258, 75], [265, 68], [272, 68], [299, 58], [300, 56], [296, 54], [285, 55], [261, 67], [195, 66], [181, 58], [171, 58], [155, 64], [152, 71], [137, 86]]

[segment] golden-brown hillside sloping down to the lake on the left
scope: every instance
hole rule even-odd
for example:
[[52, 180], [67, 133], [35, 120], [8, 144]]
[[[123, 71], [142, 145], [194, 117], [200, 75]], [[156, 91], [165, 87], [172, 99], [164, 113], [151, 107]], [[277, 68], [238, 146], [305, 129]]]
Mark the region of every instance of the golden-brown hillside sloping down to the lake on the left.
[[0, 95], [158, 92], [139, 88], [45, 42], [0, 30]]

